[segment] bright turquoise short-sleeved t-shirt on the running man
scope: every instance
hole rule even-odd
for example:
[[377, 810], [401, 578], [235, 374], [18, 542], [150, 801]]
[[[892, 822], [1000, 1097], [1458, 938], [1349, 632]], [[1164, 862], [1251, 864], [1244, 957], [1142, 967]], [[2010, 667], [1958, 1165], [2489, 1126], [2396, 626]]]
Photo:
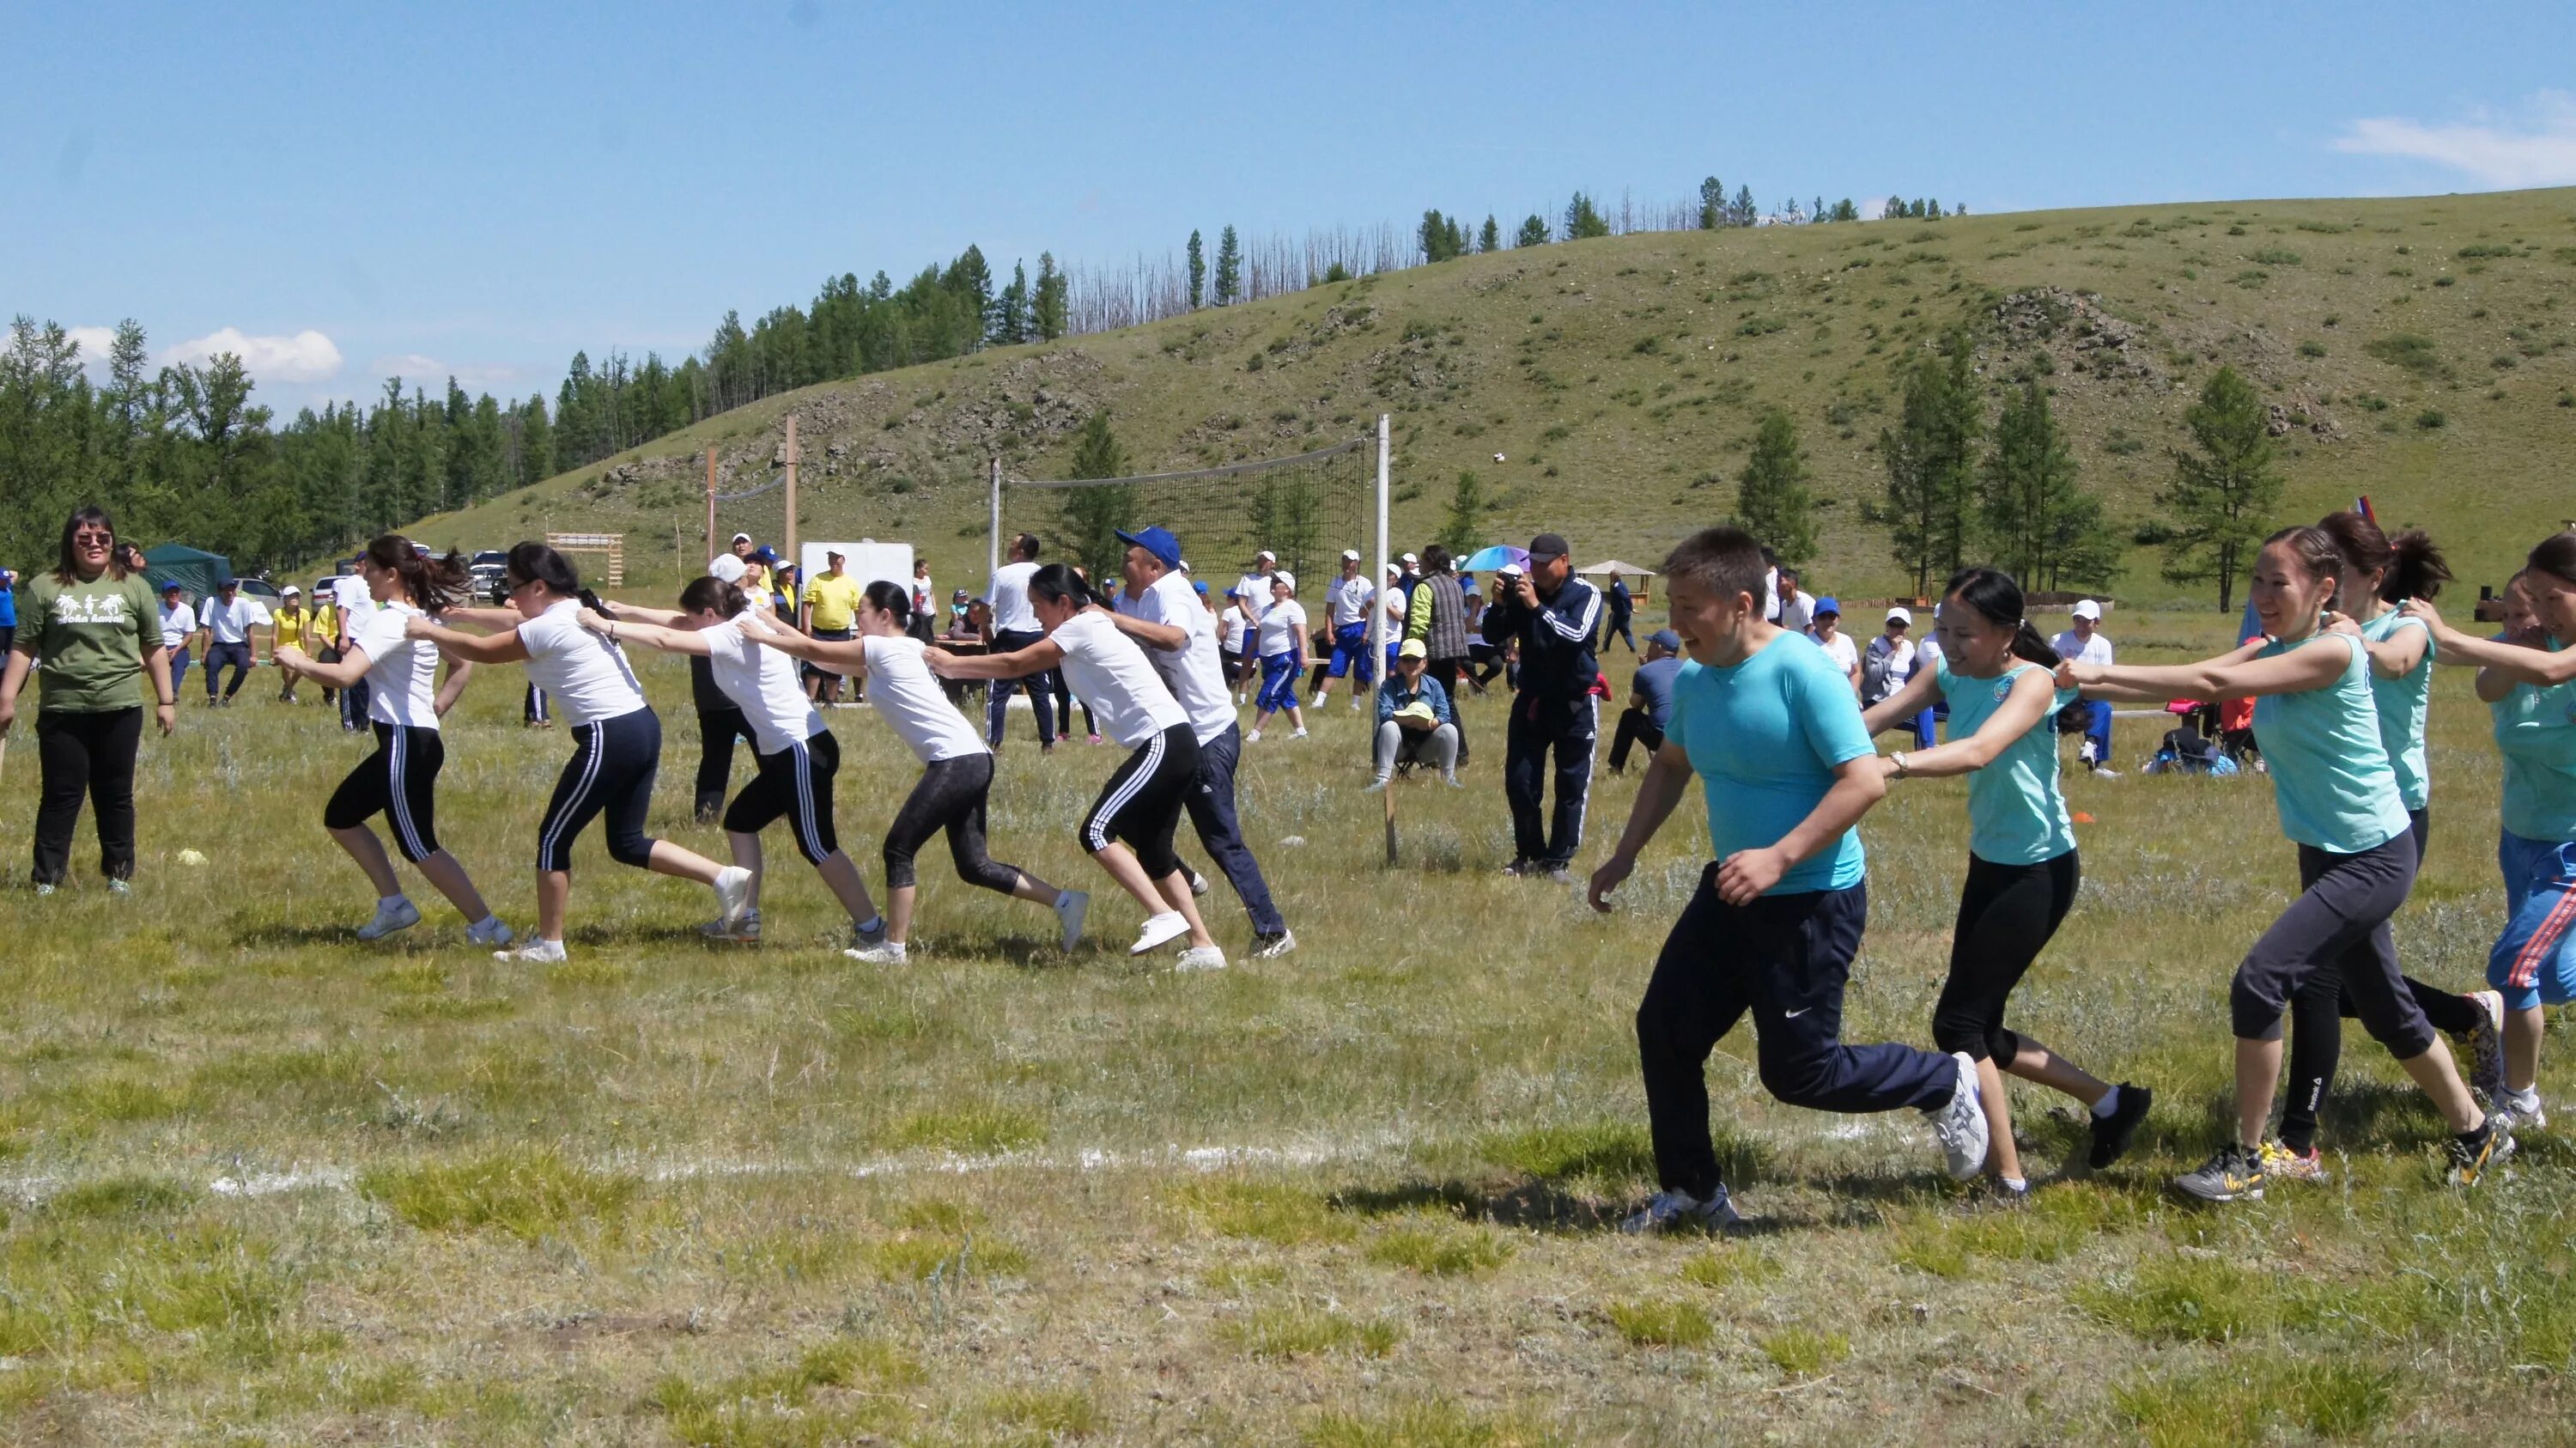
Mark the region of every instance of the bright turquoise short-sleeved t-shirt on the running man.
[[[1731, 667], [1685, 662], [1664, 737], [1700, 773], [1721, 861], [1777, 845], [1834, 788], [1834, 768], [1878, 752], [1850, 675], [1803, 634], [1780, 634]], [[1847, 889], [1860, 876], [1860, 832], [1844, 830], [1765, 894]]]

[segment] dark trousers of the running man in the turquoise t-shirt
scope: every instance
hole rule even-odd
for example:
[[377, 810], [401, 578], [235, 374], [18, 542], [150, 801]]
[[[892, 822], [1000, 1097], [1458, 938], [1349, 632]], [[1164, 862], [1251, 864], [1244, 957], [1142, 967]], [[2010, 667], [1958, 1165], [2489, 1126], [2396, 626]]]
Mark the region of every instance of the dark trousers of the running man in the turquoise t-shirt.
[[1654, 1175], [1708, 1201], [1723, 1185], [1708, 1139], [1708, 1051], [1754, 1015], [1762, 1087], [1816, 1110], [1940, 1108], [1958, 1062], [1914, 1046], [1844, 1046], [1842, 987], [1870, 917], [1868, 886], [1718, 899], [1718, 866], [1682, 907], [1636, 1007]]

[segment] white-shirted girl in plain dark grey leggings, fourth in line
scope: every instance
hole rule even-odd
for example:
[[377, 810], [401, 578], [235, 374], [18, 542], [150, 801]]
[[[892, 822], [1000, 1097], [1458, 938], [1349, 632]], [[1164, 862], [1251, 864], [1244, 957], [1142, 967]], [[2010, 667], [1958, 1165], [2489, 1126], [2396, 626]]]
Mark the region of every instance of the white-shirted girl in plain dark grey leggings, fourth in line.
[[858, 639], [809, 639], [783, 629], [744, 631], [778, 649], [770, 657], [781, 662], [793, 654], [860, 675], [868, 683], [868, 703], [876, 706], [876, 716], [894, 727], [894, 734], [922, 760], [920, 783], [894, 812], [894, 824], [886, 824], [886, 938], [845, 951], [853, 961], [904, 964], [912, 940], [912, 902], [920, 894], [912, 858], [943, 830], [958, 879], [1054, 907], [1056, 920], [1064, 922], [1064, 948], [1072, 951], [1082, 940], [1082, 915], [1092, 897], [1079, 889], [1056, 889], [1018, 866], [997, 863], [987, 853], [984, 804], [992, 796], [992, 747], [948, 701], [940, 680], [930, 678], [930, 665], [922, 662], [925, 647], [909, 636], [912, 600], [899, 585], [878, 580], [866, 587], [858, 603]]

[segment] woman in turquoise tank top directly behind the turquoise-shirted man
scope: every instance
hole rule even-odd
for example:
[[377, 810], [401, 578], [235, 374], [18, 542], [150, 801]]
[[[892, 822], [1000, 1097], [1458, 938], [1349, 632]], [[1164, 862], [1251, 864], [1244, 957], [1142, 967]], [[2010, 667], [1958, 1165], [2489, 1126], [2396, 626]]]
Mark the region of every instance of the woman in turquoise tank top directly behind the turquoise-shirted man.
[[2061, 1090], [2092, 1110], [2092, 1167], [2128, 1152], [2154, 1092], [2105, 1085], [2048, 1046], [2004, 1028], [2004, 1000], [2076, 902], [2076, 832], [2058, 794], [2058, 652], [2022, 618], [2022, 585], [1986, 567], [1942, 590], [1942, 652], [1862, 714], [1875, 737], [1940, 701], [1950, 742], [1886, 757], [1891, 781], [1968, 776], [1968, 881], [1950, 933], [1950, 974], [1932, 1007], [1932, 1041], [1976, 1062], [1986, 1108], [1986, 1167], [2007, 1193], [2027, 1190], [2012, 1144], [2002, 1072]]

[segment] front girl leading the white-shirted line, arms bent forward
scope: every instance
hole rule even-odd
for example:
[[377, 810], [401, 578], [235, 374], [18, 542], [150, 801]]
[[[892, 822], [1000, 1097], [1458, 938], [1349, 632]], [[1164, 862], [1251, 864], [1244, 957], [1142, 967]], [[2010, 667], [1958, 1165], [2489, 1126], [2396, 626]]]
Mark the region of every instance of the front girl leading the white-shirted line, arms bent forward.
[[322, 806], [322, 827], [376, 886], [376, 917], [358, 928], [358, 938], [379, 940], [420, 925], [420, 907], [402, 894], [394, 861], [366, 827], [384, 814], [394, 824], [402, 858], [412, 861], [466, 917], [466, 940], [507, 946], [510, 928], [492, 915], [456, 855], [438, 845], [438, 768], [448, 757], [438, 721], [466, 691], [474, 665], [459, 662], [448, 670], [448, 685], [438, 688], [438, 649], [407, 636], [412, 618], [428, 621], [448, 603], [469, 598], [474, 582], [461, 557], [430, 562], [399, 533], [366, 546], [358, 577], [366, 580], [374, 605], [353, 611], [348, 647], [337, 662], [314, 662], [296, 644], [273, 649], [278, 670], [291, 680], [312, 678], [322, 688], [353, 688], [361, 680], [368, 685], [366, 714], [376, 727], [376, 752], [353, 768]]

